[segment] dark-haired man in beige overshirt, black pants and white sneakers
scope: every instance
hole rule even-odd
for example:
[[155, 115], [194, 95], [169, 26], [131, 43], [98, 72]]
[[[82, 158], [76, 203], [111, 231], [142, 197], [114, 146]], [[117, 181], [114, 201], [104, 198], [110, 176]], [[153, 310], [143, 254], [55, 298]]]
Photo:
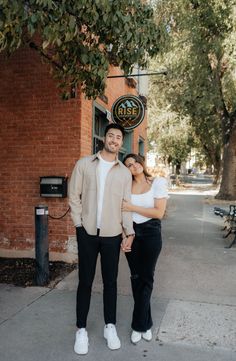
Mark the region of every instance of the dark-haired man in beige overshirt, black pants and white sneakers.
[[[122, 212], [123, 199], [130, 199], [131, 173], [118, 160], [125, 132], [118, 124], [105, 129], [104, 148], [80, 159], [69, 186], [71, 216], [76, 226], [79, 253], [77, 327], [74, 351], [88, 352], [87, 315], [98, 254], [101, 255], [104, 306], [104, 338], [111, 350], [120, 348], [116, 332], [117, 274], [120, 246], [131, 250], [134, 238], [132, 214]], [[126, 236], [122, 241], [122, 233]]]

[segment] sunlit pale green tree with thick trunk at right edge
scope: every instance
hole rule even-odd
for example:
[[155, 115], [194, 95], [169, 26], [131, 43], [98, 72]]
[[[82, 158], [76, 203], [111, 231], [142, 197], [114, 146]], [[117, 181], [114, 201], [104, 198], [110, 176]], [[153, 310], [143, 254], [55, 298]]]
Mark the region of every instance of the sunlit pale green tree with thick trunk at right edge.
[[168, 68], [161, 88], [163, 97], [173, 112], [188, 117], [217, 176], [224, 150], [220, 191], [224, 198], [236, 197], [232, 178], [235, 179], [236, 172], [232, 158], [236, 127], [235, 3], [235, 0], [156, 1], [161, 52], [155, 66]]

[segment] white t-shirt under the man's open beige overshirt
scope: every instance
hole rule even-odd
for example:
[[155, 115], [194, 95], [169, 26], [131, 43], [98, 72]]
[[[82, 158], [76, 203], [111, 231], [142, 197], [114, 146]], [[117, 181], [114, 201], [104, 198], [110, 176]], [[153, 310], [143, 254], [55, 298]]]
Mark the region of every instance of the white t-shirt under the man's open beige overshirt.
[[106, 177], [107, 177], [109, 170], [115, 164], [115, 161], [108, 162], [108, 161], [102, 159], [102, 157], [100, 155], [98, 157], [99, 157], [99, 164], [97, 167], [97, 177], [99, 180], [99, 189], [98, 189], [98, 204], [97, 204], [97, 228], [100, 228]]

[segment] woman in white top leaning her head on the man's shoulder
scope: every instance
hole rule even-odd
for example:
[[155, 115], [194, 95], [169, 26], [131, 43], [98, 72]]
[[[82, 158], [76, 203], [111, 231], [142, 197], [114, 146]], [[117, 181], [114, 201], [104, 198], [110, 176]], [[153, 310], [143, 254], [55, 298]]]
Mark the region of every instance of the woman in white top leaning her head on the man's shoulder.
[[168, 198], [167, 180], [152, 178], [144, 160], [137, 154], [128, 154], [123, 163], [132, 173], [131, 203], [123, 201], [122, 210], [133, 213], [135, 238], [131, 252], [125, 248], [134, 298], [131, 342], [152, 339], [150, 299], [154, 271], [162, 247], [161, 219]]

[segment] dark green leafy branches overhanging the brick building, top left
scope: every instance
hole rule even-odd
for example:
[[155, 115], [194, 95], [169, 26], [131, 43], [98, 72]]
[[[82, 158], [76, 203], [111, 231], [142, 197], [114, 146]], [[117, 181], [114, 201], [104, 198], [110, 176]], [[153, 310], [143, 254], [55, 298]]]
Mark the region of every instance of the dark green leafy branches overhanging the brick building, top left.
[[158, 52], [152, 8], [141, 0], [0, 0], [0, 51], [38, 51], [63, 92], [104, 93], [109, 64], [125, 74]]

